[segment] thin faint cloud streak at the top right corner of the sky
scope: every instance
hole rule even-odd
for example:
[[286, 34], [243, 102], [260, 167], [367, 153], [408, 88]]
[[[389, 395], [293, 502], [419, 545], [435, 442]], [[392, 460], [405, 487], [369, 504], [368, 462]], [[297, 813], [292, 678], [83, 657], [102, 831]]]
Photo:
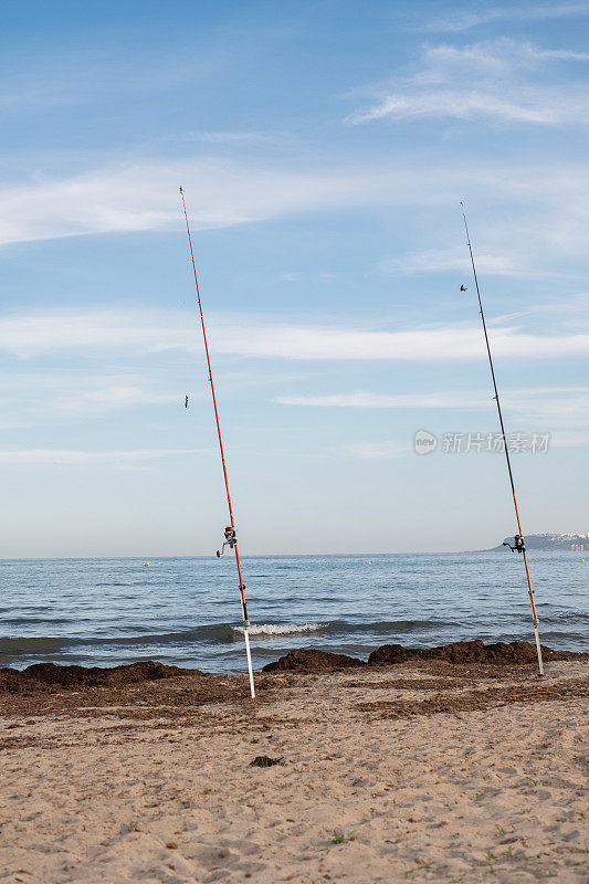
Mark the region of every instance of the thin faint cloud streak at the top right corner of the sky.
[[425, 32], [466, 31], [470, 28], [492, 22], [549, 21], [550, 19], [588, 14], [589, 4], [587, 3], [529, 3], [511, 7], [494, 7], [487, 3], [480, 6], [478, 9], [457, 9], [451, 17], [433, 19], [417, 30]]

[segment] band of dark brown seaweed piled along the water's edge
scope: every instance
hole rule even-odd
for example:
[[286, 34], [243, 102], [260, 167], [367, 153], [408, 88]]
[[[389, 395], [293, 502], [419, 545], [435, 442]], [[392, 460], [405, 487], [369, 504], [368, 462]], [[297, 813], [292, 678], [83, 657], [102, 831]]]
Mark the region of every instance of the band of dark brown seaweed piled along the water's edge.
[[[546, 661], [587, 661], [589, 654], [544, 649]], [[22, 672], [0, 669], [0, 714], [8, 716], [82, 715], [85, 717], [109, 716], [127, 722], [173, 720], [181, 726], [194, 720], [204, 722], [206, 704], [229, 704], [239, 707], [236, 713], [259, 718], [259, 726], [270, 727], [260, 716], [269, 703], [290, 687], [308, 687], [323, 674], [333, 672], [377, 673], [395, 666], [395, 680], [378, 682], [370, 680], [366, 687], [423, 691], [429, 696], [420, 701], [392, 701], [392, 706], [364, 704], [364, 712], [377, 708], [385, 715], [422, 715], [434, 712], [483, 708], [485, 704], [503, 702], [536, 702], [537, 699], [566, 698], [553, 686], [544, 686], [538, 680], [530, 686], [529, 677], [536, 674], [536, 649], [528, 642], [455, 642], [441, 648], [403, 649], [400, 645], [383, 645], [370, 655], [368, 663], [345, 654], [299, 649], [264, 667], [256, 675], [256, 699], [250, 697], [248, 676], [212, 675], [199, 670], [166, 666], [154, 661], [143, 661], [126, 666], [84, 667], [59, 666], [41, 663]], [[403, 680], [403, 671], [411, 675]], [[427, 676], [416, 678], [416, 671]], [[434, 676], [434, 677], [432, 677]], [[506, 680], [511, 686], [488, 687], [486, 693], [465, 690], [475, 687], [480, 680]], [[356, 680], [355, 680], [356, 681]], [[357, 686], [361, 685], [357, 682]], [[341, 682], [353, 687], [354, 682]], [[513, 690], [512, 690], [513, 688]], [[562, 687], [565, 690], [565, 686]], [[568, 690], [568, 688], [567, 688]], [[572, 690], [572, 688], [571, 688]], [[449, 693], [457, 691], [459, 693]], [[555, 694], [554, 692], [557, 691]], [[581, 687], [575, 687], [575, 696], [581, 696]], [[503, 693], [502, 693], [503, 692]], [[462, 704], [462, 705], [461, 705]], [[465, 704], [465, 705], [464, 705]], [[404, 709], [404, 712], [403, 712]], [[212, 713], [211, 713], [212, 714]], [[229, 713], [228, 713], [229, 714]], [[232, 713], [233, 714], [233, 713]], [[219, 718], [219, 711], [214, 713]], [[196, 716], [196, 718], [194, 718]], [[161, 725], [165, 726], [165, 725]], [[256, 725], [257, 726], [257, 725]]]

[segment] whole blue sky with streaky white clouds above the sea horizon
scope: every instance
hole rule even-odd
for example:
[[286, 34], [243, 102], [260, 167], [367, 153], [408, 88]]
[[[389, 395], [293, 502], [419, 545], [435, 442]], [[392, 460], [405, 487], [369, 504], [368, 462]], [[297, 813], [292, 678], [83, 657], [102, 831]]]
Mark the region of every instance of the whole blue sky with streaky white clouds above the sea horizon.
[[[512, 533], [469, 212], [528, 532], [588, 530], [589, 3], [3, 11], [3, 556]], [[461, 293], [461, 284], [467, 291]], [[185, 394], [190, 408], [183, 408]]]

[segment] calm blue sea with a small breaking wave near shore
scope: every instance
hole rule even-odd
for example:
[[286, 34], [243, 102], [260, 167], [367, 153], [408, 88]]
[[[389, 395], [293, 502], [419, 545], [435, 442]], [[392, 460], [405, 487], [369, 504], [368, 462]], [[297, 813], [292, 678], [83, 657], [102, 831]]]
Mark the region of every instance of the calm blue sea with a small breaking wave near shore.
[[[589, 556], [530, 567], [545, 644], [587, 650]], [[366, 657], [386, 642], [533, 639], [522, 560], [508, 552], [244, 559], [255, 669], [292, 648]], [[0, 561], [0, 665], [159, 660], [243, 671], [232, 559]]]

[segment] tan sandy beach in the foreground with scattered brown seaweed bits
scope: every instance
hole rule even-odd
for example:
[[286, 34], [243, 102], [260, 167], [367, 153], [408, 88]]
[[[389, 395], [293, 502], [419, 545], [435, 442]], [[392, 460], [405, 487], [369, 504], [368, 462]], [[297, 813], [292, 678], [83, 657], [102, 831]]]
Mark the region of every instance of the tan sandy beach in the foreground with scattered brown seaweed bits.
[[587, 881], [588, 672], [276, 672], [254, 702], [198, 673], [0, 694], [0, 881]]

